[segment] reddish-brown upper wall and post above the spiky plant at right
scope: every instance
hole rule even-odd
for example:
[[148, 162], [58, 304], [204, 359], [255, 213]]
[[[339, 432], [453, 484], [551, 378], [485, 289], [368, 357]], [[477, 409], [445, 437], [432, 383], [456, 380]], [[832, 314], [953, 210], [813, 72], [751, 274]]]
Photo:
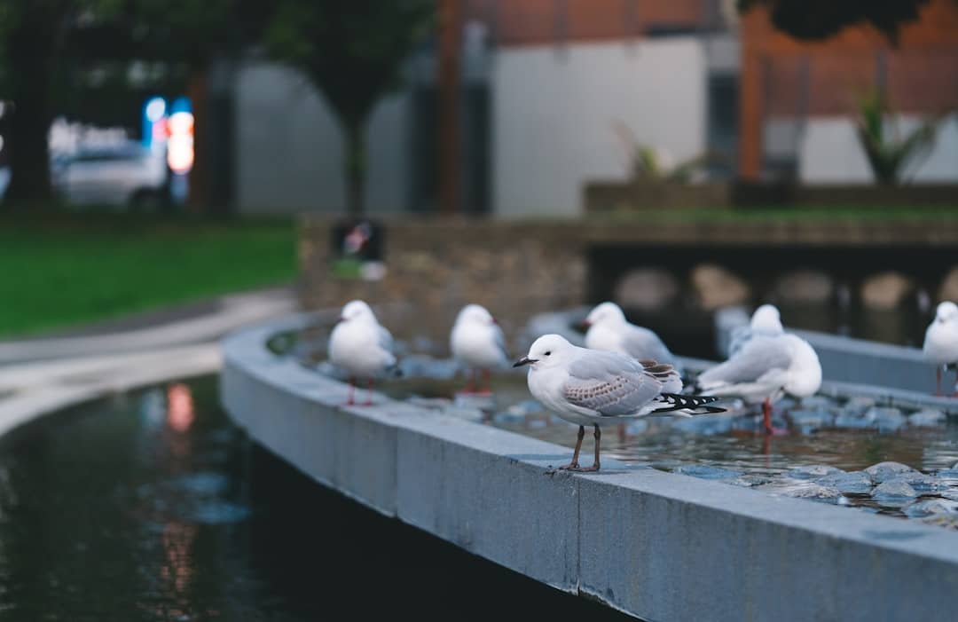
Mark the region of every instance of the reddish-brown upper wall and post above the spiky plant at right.
[[899, 44], [870, 26], [820, 42], [776, 31], [764, 9], [741, 20], [741, 177], [762, 173], [768, 116], [852, 114], [855, 101], [881, 86], [901, 112], [958, 109], [958, 3], [931, 0], [921, 20], [901, 29]]

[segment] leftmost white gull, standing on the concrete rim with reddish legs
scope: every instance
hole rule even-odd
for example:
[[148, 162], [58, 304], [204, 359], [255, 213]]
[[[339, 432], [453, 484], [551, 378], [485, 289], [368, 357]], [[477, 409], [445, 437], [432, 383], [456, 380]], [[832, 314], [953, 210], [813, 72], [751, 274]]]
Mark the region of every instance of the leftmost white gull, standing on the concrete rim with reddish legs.
[[373, 379], [396, 365], [393, 335], [379, 325], [369, 305], [354, 300], [343, 307], [330, 335], [330, 361], [350, 375], [350, 398], [354, 404], [355, 381], [367, 379], [369, 395], [365, 405], [373, 403]]

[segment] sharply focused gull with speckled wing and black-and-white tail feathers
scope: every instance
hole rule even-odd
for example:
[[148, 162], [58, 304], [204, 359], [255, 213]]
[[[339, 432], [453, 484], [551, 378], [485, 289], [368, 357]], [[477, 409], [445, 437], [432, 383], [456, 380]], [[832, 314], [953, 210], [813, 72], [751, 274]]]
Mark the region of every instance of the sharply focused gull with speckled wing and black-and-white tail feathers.
[[[719, 398], [679, 395], [682, 380], [672, 365], [652, 360], [638, 361], [617, 352], [574, 346], [559, 334], [536, 339], [529, 354], [513, 367], [529, 365], [529, 391], [562, 419], [579, 426], [572, 462], [559, 467], [568, 471], [599, 471], [600, 426], [624, 419], [675, 415], [691, 417], [724, 408], [706, 406]], [[579, 466], [579, 450], [585, 426], [593, 426], [595, 463]]]

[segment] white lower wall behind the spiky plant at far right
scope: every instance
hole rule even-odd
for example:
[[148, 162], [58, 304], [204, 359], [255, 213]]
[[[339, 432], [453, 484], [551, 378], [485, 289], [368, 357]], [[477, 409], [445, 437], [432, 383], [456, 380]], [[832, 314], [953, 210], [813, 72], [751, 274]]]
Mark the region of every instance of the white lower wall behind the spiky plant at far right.
[[[907, 136], [920, 121], [913, 116], [901, 116], [897, 123], [900, 135]], [[855, 122], [848, 117], [810, 119], [799, 142], [798, 165], [801, 180], [810, 184], [875, 181], [858, 142]], [[952, 116], [939, 127], [934, 148], [926, 158], [919, 158], [906, 169], [905, 179], [915, 183], [958, 182], [958, 120]]]

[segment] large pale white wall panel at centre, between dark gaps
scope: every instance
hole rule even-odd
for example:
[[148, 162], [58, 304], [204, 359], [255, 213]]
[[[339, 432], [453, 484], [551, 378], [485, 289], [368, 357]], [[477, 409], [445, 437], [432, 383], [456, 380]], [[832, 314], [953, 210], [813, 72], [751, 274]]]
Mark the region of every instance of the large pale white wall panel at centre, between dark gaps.
[[582, 213], [582, 184], [627, 176], [613, 130], [673, 160], [706, 145], [706, 58], [695, 37], [503, 48], [492, 91], [492, 200], [498, 216]]

